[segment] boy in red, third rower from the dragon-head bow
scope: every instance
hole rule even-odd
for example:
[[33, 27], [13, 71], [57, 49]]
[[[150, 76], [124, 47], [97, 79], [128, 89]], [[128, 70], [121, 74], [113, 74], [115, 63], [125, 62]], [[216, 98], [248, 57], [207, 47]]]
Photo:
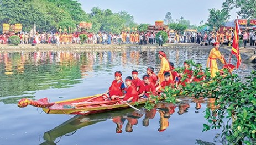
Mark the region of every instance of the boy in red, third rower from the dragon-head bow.
[[132, 71], [132, 77], [133, 77], [133, 84], [136, 87], [139, 97], [145, 97], [144, 96], [144, 94], [145, 94], [144, 82], [138, 78], [137, 70]]

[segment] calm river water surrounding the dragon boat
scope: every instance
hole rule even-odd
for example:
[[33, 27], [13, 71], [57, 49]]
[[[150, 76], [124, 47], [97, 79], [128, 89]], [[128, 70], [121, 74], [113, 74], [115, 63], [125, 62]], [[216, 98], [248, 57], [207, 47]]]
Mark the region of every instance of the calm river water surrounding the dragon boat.
[[[48, 97], [55, 102], [104, 93], [115, 71], [126, 77], [138, 70], [142, 77], [153, 66], [157, 72], [159, 50], [0, 53], [0, 144], [222, 144], [221, 130], [202, 132], [203, 111], [211, 106], [205, 101], [183, 98], [175, 105], [160, 103], [150, 112], [138, 107], [143, 111], [124, 109], [88, 116], [17, 107], [21, 98]], [[187, 59], [206, 66], [210, 52], [210, 48], [163, 50], [175, 66]], [[222, 54], [229, 57], [227, 52]], [[234, 72], [244, 76], [253, 69], [252, 64], [242, 63]], [[122, 133], [116, 133], [117, 126]]]

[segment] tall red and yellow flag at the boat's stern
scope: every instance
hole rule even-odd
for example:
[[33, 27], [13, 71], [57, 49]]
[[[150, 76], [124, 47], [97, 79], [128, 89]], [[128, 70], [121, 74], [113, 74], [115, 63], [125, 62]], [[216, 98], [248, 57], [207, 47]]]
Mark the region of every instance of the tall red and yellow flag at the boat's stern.
[[239, 65], [241, 64], [241, 56], [239, 53], [239, 29], [238, 29], [238, 21], [236, 21], [236, 27], [234, 29], [234, 38], [233, 38], [233, 44], [232, 44], [232, 51], [231, 53], [234, 54], [237, 57], [237, 69]]

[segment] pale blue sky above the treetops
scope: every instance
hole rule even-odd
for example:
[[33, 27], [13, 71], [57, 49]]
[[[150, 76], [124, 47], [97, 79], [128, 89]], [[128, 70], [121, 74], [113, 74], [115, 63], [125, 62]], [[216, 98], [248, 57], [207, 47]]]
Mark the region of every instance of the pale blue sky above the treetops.
[[[80, 0], [83, 10], [90, 13], [93, 7], [111, 9], [117, 13], [121, 10], [133, 15], [135, 23], [154, 24], [156, 20], [164, 20], [165, 14], [171, 12], [173, 19], [181, 16], [190, 20], [191, 24], [199, 25], [208, 18], [208, 9], [221, 9], [225, 0]], [[231, 18], [236, 18], [236, 10], [231, 11]]]

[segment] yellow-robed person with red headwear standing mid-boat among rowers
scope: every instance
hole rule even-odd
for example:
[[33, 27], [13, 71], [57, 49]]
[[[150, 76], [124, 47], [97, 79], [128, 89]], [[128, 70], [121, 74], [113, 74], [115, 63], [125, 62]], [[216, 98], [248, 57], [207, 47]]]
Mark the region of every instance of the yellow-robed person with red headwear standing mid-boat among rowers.
[[[170, 69], [170, 64], [166, 59], [166, 55], [163, 51], [159, 51], [158, 57], [159, 59], [161, 59], [161, 68], [157, 76], [159, 78], [159, 85], [161, 85], [161, 83], [164, 81], [164, 73], [170, 72], [171, 74], [171, 69]], [[170, 79], [173, 80], [173, 75], [170, 76]]]

